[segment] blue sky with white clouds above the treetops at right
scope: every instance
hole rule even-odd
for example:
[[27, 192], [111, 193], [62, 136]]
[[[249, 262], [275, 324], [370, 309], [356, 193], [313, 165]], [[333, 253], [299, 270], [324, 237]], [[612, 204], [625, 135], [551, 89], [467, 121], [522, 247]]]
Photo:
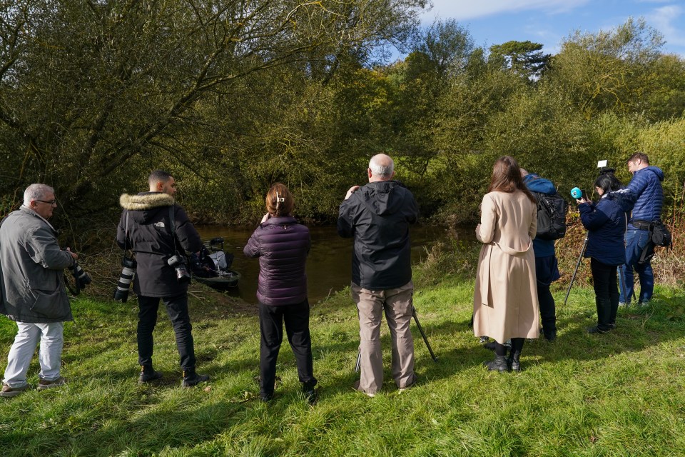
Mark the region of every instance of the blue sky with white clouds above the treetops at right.
[[556, 54], [561, 41], [574, 31], [597, 33], [643, 17], [664, 35], [661, 48], [685, 59], [684, 0], [432, 0], [433, 9], [422, 23], [456, 19], [465, 26], [476, 46], [488, 48], [509, 40], [544, 45]]

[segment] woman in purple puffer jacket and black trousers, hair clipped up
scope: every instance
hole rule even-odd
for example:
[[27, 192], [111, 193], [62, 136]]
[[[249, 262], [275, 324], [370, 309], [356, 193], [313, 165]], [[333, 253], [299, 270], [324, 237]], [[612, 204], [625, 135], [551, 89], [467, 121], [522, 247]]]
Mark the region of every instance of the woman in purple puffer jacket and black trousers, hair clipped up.
[[309, 334], [309, 302], [305, 262], [312, 244], [309, 229], [291, 212], [295, 206], [288, 188], [277, 183], [266, 194], [267, 214], [243, 249], [245, 256], [259, 257], [260, 395], [273, 398], [276, 360], [283, 341], [283, 322], [288, 343], [298, 364], [302, 391], [316, 401], [312, 341]]

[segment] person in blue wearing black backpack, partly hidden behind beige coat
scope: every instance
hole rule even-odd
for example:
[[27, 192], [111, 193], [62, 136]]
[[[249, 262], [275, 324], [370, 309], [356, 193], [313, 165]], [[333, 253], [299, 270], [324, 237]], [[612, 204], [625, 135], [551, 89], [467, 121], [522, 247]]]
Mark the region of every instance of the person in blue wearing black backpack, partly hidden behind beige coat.
[[[529, 191], [540, 194], [554, 195], [557, 188], [552, 181], [544, 179], [534, 173], [521, 169], [523, 182]], [[554, 240], [543, 240], [537, 236], [533, 239], [535, 253], [535, 278], [537, 280], [537, 301], [540, 306], [542, 320], [542, 334], [547, 341], [557, 339], [557, 316], [552, 292], [549, 286], [559, 279], [557, 256], [554, 253]]]

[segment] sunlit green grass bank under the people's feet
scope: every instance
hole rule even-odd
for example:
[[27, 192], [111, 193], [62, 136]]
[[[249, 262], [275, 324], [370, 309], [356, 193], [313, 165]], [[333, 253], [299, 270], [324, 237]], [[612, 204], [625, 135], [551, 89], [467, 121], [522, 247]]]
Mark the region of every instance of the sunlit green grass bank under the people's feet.
[[[652, 306], [619, 311], [618, 328], [589, 335], [594, 294], [554, 296], [559, 338], [529, 341], [522, 373], [489, 373], [492, 353], [468, 327], [472, 281], [417, 288], [415, 306], [439, 357], [414, 326], [419, 383], [399, 394], [386, 369], [375, 398], [352, 391], [358, 323], [349, 291], [313, 306], [320, 401], [306, 405], [283, 346], [277, 396], [258, 401], [259, 328], [253, 308], [194, 286], [198, 371], [180, 387], [178, 353], [161, 311], [155, 333], [163, 382], [136, 383], [136, 306], [73, 301], [63, 374], [68, 384], [0, 398], [0, 449], [11, 456], [680, 456], [685, 453], [682, 292], [657, 288]], [[384, 324], [385, 326], [385, 324]], [[14, 323], [0, 319], [0, 366]], [[386, 368], [390, 341], [382, 336]], [[36, 358], [29, 382], [38, 381]]]

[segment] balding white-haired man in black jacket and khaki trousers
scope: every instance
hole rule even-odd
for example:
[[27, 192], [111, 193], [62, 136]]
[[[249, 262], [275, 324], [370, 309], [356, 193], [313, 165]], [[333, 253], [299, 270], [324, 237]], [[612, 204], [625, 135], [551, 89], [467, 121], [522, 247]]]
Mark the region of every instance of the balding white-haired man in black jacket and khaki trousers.
[[390, 156], [373, 156], [369, 184], [352, 186], [340, 204], [338, 233], [355, 239], [352, 299], [360, 336], [358, 391], [374, 396], [383, 383], [380, 318], [385, 311], [392, 337], [392, 377], [403, 391], [416, 381], [412, 320], [412, 266], [409, 225], [418, 218], [414, 196], [395, 176]]

